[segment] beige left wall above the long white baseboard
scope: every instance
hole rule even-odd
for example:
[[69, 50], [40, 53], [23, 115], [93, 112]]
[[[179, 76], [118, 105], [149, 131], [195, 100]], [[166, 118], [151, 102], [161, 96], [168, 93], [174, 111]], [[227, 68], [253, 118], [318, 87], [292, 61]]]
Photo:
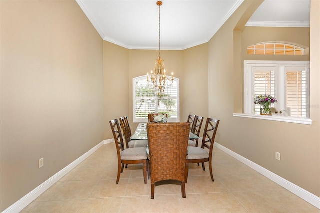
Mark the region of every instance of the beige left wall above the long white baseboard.
[[0, 5], [2, 211], [103, 140], [103, 61], [75, 1]]

